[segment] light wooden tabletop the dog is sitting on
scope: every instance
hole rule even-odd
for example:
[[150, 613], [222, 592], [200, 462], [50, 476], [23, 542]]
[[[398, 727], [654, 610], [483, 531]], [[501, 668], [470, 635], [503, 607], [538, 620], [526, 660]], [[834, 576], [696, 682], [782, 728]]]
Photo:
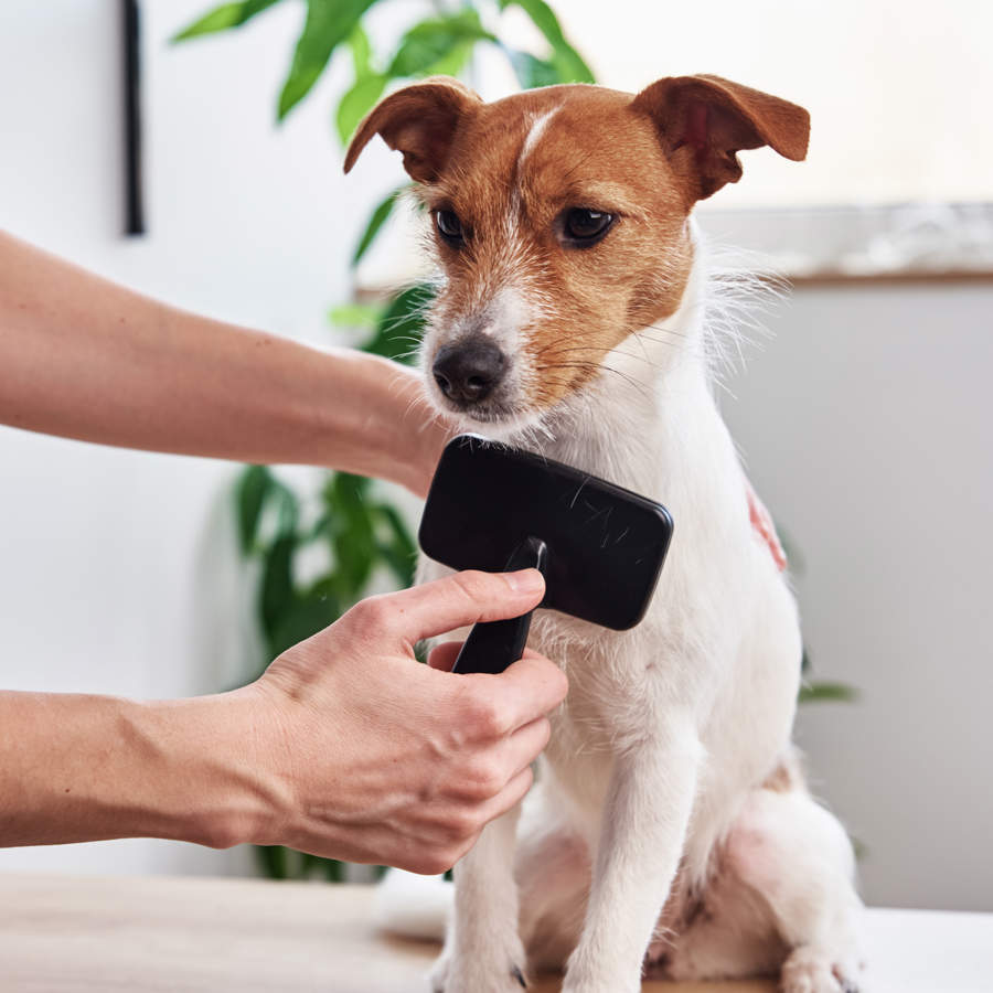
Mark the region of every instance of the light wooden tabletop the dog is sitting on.
[[[421, 993], [437, 947], [376, 935], [370, 907], [371, 891], [357, 886], [0, 875], [0, 991]], [[993, 915], [873, 910], [867, 943], [866, 993], [993, 991]], [[554, 993], [558, 983], [532, 989]]]

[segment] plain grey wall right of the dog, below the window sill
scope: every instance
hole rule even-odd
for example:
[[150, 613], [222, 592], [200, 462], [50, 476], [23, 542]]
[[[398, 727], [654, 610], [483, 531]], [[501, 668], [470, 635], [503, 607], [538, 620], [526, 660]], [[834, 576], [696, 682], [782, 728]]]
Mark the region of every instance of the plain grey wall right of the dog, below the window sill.
[[816, 791], [875, 903], [993, 909], [993, 284], [810, 289], [725, 412], [805, 560]]

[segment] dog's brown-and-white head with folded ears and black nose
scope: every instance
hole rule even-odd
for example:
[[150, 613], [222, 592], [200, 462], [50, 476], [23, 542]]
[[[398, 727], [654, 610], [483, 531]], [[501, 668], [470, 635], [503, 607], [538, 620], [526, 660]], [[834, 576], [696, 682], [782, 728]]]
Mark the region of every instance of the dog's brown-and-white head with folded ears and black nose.
[[423, 348], [428, 388], [463, 424], [538, 420], [632, 332], [679, 307], [687, 216], [736, 182], [736, 152], [807, 152], [805, 110], [717, 76], [637, 96], [551, 86], [484, 104], [438, 77], [383, 99], [345, 156], [403, 152], [446, 276]]

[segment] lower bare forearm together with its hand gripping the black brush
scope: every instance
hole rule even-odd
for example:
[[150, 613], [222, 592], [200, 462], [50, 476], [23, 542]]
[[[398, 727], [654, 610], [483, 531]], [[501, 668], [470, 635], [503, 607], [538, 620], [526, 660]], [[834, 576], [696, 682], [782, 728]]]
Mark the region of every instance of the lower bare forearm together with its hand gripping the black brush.
[[254, 842], [442, 872], [526, 792], [566, 685], [530, 652], [463, 676], [456, 645], [430, 665], [413, 645], [543, 594], [525, 570], [373, 597], [214, 696], [0, 693], [0, 845]]

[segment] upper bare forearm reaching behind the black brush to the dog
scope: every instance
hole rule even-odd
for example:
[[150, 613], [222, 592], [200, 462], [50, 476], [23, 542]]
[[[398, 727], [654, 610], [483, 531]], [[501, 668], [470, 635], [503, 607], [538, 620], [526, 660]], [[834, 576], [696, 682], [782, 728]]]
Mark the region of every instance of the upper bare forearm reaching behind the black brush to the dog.
[[416, 376], [185, 313], [0, 233], [0, 421], [424, 492], [445, 431]]

